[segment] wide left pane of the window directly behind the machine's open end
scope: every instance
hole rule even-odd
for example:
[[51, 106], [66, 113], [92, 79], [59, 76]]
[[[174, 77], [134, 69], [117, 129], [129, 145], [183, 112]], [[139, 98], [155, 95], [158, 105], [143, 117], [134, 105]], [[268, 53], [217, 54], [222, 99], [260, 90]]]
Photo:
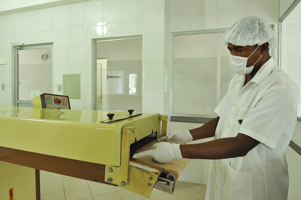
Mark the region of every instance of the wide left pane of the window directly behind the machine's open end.
[[217, 33], [174, 38], [173, 112], [215, 115]]

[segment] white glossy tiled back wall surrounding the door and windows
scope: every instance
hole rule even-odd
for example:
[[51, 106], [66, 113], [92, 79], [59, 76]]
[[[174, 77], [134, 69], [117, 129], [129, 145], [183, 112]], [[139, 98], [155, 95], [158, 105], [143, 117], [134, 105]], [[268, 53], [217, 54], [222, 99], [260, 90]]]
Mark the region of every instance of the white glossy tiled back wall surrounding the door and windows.
[[[145, 69], [142, 71], [142, 112], [169, 114], [170, 32], [226, 28], [251, 14], [275, 24], [278, 34], [278, 0], [93, 0], [1, 16], [0, 59], [6, 59], [7, 64], [0, 66], [0, 84], [6, 86], [4, 91], [0, 90], [0, 103], [11, 105], [12, 102], [14, 68], [10, 42], [53, 42], [53, 92], [61, 93], [56, 89], [57, 85], [63, 85], [63, 74], [80, 73], [82, 98], [72, 99], [70, 104], [73, 109], [91, 109], [91, 38], [142, 34]], [[153, 68], [155, 70], [151, 70]], [[153, 78], [155, 84], [152, 84]], [[168, 125], [169, 132], [193, 126], [180, 122]], [[191, 162], [181, 179], [206, 183], [208, 165], [206, 160]], [[202, 180], [190, 179], [196, 176], [197, 166], [204, 169], [203, 174], [198, 174]]]

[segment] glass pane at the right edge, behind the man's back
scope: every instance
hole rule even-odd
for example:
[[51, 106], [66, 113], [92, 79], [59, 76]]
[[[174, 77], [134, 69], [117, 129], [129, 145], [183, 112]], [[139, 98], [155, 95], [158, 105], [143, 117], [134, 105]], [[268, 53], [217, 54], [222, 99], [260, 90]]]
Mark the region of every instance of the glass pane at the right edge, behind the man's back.
[[[281, 68], [301, 88], [301, 3], [281, 23]], [[301, 98], [300, 98], [301, 100]], [[298, 105], [301, 116], [301, 103]]]

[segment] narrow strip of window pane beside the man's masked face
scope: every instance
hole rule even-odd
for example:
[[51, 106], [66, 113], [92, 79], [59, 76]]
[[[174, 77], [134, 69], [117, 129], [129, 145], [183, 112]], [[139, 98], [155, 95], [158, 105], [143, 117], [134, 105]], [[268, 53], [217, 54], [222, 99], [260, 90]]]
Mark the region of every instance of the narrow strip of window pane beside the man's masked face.
[[[221, 33], [221, 38], [224, 37], [225, 32]], [[221, 85], [220, 85], [220, 100], [226, 95], [229, 83], [233, 78], [235, 72], [229, 66], [230, 52], [221, 40]]]

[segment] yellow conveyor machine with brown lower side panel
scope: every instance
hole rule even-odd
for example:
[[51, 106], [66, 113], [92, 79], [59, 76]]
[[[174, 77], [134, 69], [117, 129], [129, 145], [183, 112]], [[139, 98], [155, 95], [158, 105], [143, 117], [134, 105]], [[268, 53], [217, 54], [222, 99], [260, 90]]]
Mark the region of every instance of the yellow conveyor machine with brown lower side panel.
[[40, 199], [39, 170], [145, 197], [153, 188], [172, 193], [188, 159], [130, 159], [131, 145], [165, 136], [166, 126], [160, 114], [0, 106], [0, 199]]

